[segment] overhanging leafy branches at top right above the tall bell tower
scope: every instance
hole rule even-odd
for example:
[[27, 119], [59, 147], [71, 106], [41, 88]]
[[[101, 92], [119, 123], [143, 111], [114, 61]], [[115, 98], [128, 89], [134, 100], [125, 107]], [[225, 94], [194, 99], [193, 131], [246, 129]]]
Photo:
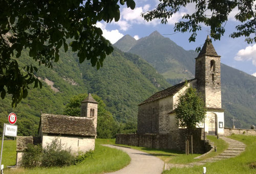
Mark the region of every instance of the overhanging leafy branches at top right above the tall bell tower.
[[[234, 11], [234, 16], [240, 25], [236, 26], [237, 31], [229, 36], [232, 38], [245, 36], [248, 44], [256, 42], [256, 4], [254, 0], [159, 0], [157, 8], [142, 14], [145, 20], [150, 21], [155, 18], [161, 19], [162, 24], [167, 23], [167, 19], [179, 12], [182, 7], [195, 4], [192, 14], [184, 14], [181, 21], [175, 24], [175, 32], [191, 32], [190, 41], [195, 41], [197, 31], [201, 30], [201, 25], [210, 26], [210, 36], [214, 40], [220, 40], [225, 32], [225, 25], [228, 15]], [[254, 37], [250, 37], [254, 35]], [[199, 48], [197, 48], [200, 51]]]

